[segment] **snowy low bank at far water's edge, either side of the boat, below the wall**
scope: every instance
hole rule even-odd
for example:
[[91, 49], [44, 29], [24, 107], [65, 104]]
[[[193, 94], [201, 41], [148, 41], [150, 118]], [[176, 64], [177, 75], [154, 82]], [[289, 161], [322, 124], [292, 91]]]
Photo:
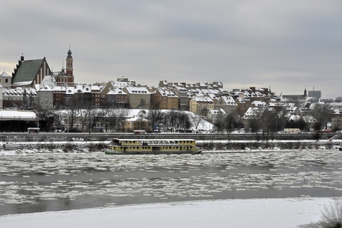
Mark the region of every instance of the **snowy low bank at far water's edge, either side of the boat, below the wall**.
[[[110, 141], [0, 142], [0, 154], [103, 152]], [[342, 140], [197, 140], [204, 152], [338, 150]]]

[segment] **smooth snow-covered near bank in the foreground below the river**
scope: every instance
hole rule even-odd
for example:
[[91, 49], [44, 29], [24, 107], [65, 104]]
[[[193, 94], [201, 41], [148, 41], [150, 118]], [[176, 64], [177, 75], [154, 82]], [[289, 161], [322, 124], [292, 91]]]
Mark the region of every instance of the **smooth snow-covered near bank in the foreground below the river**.
[[15, 214], [1, 228], [234, 227], [290, 228], [316, 222], [330, 198], [226, 199]]

